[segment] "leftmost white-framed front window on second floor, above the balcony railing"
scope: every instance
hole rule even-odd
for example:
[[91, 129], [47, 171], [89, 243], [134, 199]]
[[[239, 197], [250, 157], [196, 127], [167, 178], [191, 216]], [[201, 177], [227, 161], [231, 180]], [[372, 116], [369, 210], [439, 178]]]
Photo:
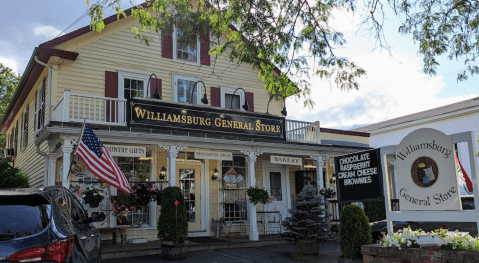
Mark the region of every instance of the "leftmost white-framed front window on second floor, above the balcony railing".
[[124, 99], [148, 97], [148, 77], [144, 74], [118, 72], [118, 97]]

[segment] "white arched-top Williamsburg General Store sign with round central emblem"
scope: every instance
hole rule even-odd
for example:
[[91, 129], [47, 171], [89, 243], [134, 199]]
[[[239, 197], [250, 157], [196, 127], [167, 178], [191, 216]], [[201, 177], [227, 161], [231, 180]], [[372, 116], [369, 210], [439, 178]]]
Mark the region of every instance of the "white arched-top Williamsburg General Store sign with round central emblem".
[[395, 154], [401, 210], [460, 210], [452, 136], [418, 129]]

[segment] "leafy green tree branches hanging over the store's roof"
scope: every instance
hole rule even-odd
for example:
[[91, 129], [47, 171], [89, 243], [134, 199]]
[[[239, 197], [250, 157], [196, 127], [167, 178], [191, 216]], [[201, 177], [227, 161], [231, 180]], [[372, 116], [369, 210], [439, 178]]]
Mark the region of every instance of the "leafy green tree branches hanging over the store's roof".
[[[121, 0], [92, 2], [93, 30], [105, 27], [105, 8], [114, 9], [118, 17], [126, 15]], [[151, 0], [132, 8], [131, 15], [140, 25], [132, 31], [146, 43], [150, 41], [143, 34], [147, 29], [171, 32], [175, 26], [183, 33], [182, 41], [211, 34], [214, 48], [209, 52], [215, 61], [251, 64], [276, 99], [293, 94], [309, 98], [313, 76], [330, 78], [340, 89], [349, 90], [357, 89], [358, 77], [365, 74], [335, 54], [345, 44], [343, 35], [329, 26], [335, 8], [351, 6], [343, 0]], [[212, 74], [216, 74], [214, 66]]]

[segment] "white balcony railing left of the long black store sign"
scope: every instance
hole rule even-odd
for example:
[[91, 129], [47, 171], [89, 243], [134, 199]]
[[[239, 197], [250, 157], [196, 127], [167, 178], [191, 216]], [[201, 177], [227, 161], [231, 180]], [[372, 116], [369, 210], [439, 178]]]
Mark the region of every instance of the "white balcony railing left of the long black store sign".
[[126, 126], [126, 99], [77, 94], [66, 90], [53, 108], [52, 119]]

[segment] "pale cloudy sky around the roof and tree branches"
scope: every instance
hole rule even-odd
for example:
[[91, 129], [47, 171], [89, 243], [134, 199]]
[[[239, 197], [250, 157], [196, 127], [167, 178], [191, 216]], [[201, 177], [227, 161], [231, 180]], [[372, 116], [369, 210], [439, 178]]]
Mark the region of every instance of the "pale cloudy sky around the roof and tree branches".
[[[85, 0], [16, 0], [4, 1], [2, 6], [0, 63], [18, 74], [25, 70], [35, 47], [90, 21]], [[347, 40], [338, 54], [364, 68], [367, 76], [359, 80], [359, 90], [351, 91], [340, 91], [328, 81], [312, 79], [314, 108], [304, 108], [301, 100], [289, 98], [288, 119], [319, 120], [321, 127], [350, 130], [478, 96], [479, 77], [456, 81], [460, 61], [443, 58], [437, 75], [424, 74], [417, 44], [411, 35], [397, 33], [400, 20], [393, 15], [387, 14], [385, 20], [389, 51], [378, 48], [367, 31], [358, 31], [358, 13], [337, 11], [333, 17], [331, 26]]]

